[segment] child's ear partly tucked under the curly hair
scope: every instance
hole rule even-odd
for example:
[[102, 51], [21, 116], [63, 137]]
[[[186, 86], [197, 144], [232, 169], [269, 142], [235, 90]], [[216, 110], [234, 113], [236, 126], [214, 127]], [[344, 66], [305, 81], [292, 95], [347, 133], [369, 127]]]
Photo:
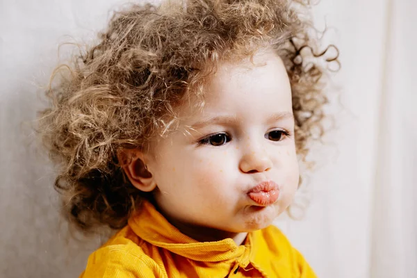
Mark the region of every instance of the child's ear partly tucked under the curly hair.
[[117, 152], [117, 159], [133, 186], [144, 192], [151, 192], [156, 188], [154, 176], [145, 163], [145, 154], [139, 149], [122, 149]]

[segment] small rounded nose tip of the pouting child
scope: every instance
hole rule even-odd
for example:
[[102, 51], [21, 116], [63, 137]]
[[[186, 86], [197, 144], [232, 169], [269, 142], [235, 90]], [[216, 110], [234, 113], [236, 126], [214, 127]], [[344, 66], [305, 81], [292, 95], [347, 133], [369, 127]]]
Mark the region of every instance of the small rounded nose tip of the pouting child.
[[247, 152], [242, 156], [239, 168], [244, 173], [265, 172], [272, 167], [272, 161], [265, 149], [247, 149]]

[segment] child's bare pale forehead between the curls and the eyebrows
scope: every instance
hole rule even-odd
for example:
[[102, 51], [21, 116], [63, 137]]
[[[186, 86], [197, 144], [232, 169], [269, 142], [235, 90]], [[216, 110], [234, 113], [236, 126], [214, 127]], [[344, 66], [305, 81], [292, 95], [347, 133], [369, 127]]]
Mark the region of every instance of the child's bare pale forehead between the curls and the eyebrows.
[[228, 114], [257, 117], [292, 113], [291, 85], [281, 58], [272, 50], [256, 53], [252, 59], [224, 62], [204, 85], [204, 106], [180, 108], [180, 119]]

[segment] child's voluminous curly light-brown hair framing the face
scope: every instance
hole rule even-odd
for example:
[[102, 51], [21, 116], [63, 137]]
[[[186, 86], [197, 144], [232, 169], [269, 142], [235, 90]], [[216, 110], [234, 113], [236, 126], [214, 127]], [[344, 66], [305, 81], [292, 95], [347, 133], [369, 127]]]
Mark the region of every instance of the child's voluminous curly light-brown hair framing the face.
[[65, 215], [83, 231], [123, 227], [149, 195], [126, 179], [117, 152], [175, 129], [175, 106], [189, 95], [201, 100], [204, 79], [218, 63], [265, 45], [291, 80], [297, 153], [305, 161], [307, 143], [323, 131], [325, 65], [338, 63], [336, 54], [320, 64], [332, 46], [313, 51], [318, 38], [304, 17], [308, 7], [306, 1], [183, 0], [115, 13], [99, 42], [47, 90], [51, 108], [40, 115], [38, 131], [60, 165], [55, 188]]

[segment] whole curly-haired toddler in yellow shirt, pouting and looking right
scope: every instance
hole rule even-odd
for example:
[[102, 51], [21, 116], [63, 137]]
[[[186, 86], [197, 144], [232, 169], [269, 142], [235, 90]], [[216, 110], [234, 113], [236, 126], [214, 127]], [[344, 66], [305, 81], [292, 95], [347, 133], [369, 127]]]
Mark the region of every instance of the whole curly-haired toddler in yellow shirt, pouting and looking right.
[[40, 131], [64, 213], [117, 231], [81, 277], [316, 277], [271, 225], [338, 62], [311, 50], [308, 5], [131, 5], [51, 87]]

